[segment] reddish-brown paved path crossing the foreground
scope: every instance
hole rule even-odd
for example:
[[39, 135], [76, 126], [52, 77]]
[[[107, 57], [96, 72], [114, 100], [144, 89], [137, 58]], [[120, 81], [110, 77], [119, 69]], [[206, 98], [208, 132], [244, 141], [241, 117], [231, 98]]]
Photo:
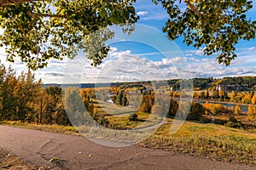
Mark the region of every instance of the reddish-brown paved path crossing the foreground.
[[[84, 137], [7, 126], [0, 126], [0, 147], [45, 169], [255, 169], [137, 146], [110, 148]], [[61, 161], [50, 162], [52, 158]]]

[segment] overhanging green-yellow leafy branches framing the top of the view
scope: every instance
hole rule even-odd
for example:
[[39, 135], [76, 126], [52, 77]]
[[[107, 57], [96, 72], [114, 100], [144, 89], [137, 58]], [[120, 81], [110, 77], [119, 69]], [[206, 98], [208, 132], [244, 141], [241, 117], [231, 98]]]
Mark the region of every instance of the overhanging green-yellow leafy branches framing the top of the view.
[[[137, 23], [136, 0], [0, 0], [0, 45], [7, 58], [20, 58], [36, 70], [49, 59], [73, 58], [80, 49], [99, 65], [107, 57], [108, 26], [131, 32]], [[171, 40], [217, 54], [220, 64], [236, 58], [236, 44], [255, 37], [256, 21], [247, 17], [252, 0], [152, 0], [169, 14], [163, 31]], [[186, 8], [182, 8], [185, 4]], [[136, 29], [136, 28], [135, 28]], [[91, 37], [91, 33], [99, 31]], [[94, 39], [97, 39], [97, 42]], [[96, 44], [95, 44], [96, 43]], [[84, 48], [86, 46], [86, 48]], [[99, 48], [100, 47], [100, 48]]]

